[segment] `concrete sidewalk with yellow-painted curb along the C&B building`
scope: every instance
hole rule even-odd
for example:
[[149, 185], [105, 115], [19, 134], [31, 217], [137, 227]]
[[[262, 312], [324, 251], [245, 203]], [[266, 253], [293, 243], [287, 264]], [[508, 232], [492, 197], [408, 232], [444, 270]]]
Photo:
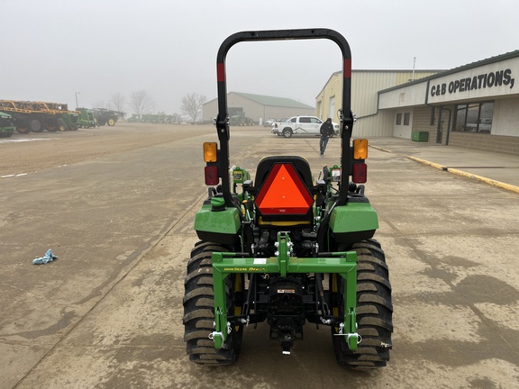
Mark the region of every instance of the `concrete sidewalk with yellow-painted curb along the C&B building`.
[[369, 146], [519, 194], [519, 156], [400, 138], [371, 138]]

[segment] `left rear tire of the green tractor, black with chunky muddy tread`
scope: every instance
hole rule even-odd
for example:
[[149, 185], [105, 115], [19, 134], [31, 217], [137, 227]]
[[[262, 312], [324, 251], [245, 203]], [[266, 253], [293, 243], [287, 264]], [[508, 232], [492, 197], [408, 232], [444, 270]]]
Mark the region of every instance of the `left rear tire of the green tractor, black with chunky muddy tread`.
[[[184, 341], [189, 360], [207, 366], [231, 365], [240, 354], [243, 326], [232, 327], [223, 348], [214, 348], [209, 334], [214, 331], [213, 252], [228, 251], [211, 242], [198, 242], [191, 250], [184, 283]], [[225, 278], [227, 314], [234, 314], [235, 275]]]

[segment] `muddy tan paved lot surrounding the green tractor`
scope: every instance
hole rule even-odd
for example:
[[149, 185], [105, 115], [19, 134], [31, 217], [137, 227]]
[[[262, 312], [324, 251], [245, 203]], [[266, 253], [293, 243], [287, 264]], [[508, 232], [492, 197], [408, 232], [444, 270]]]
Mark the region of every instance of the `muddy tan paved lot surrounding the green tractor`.
[[[215, 139], [213, 126], [117, 123], [0, 140], [1, 388], [517, 387], [519, 198], [382, 139], [367, 195], [393, 286], [387, 367], [344, 369], [330, 329], [311, 325], [290, 357], [259, 325], [236, 364], [190, 363], [184, 277], [207, 194], [201, 145]], [[318, 139], [263, 127], [232, 130], [231, 148], [252, 175], [265, 155], [301, 155], [314, 176], [340, 155], [335, 139], [321, 157]], [[59, 258], [32, 265], [49, 248]]]

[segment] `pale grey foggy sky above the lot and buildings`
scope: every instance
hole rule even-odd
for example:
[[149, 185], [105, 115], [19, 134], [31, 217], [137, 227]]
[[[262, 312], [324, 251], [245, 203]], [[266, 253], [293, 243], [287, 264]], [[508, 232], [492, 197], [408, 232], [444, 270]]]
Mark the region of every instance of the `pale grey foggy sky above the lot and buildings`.
[[[456, 68], [519, 49], [515, 0], [0, 0], [0, 99], [107, 104], [144, 89], [154, 113], [216, 98], [216, 53], [234, 32], [330, 28], [353, 69]], [[227, 90], [314, 106], [341, 70], [332, 41], [241, 42]], [[129, 104], [126, 112], [131, 113]]]

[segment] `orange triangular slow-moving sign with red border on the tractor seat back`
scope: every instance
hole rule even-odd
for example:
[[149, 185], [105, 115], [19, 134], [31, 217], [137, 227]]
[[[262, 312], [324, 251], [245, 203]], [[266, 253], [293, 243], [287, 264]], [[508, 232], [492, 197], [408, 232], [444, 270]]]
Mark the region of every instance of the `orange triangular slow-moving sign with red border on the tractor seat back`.
[[275, 164], [259, 190], [259, 212], [268, 214], [305, 214], [314, 198], [292, 164]]

